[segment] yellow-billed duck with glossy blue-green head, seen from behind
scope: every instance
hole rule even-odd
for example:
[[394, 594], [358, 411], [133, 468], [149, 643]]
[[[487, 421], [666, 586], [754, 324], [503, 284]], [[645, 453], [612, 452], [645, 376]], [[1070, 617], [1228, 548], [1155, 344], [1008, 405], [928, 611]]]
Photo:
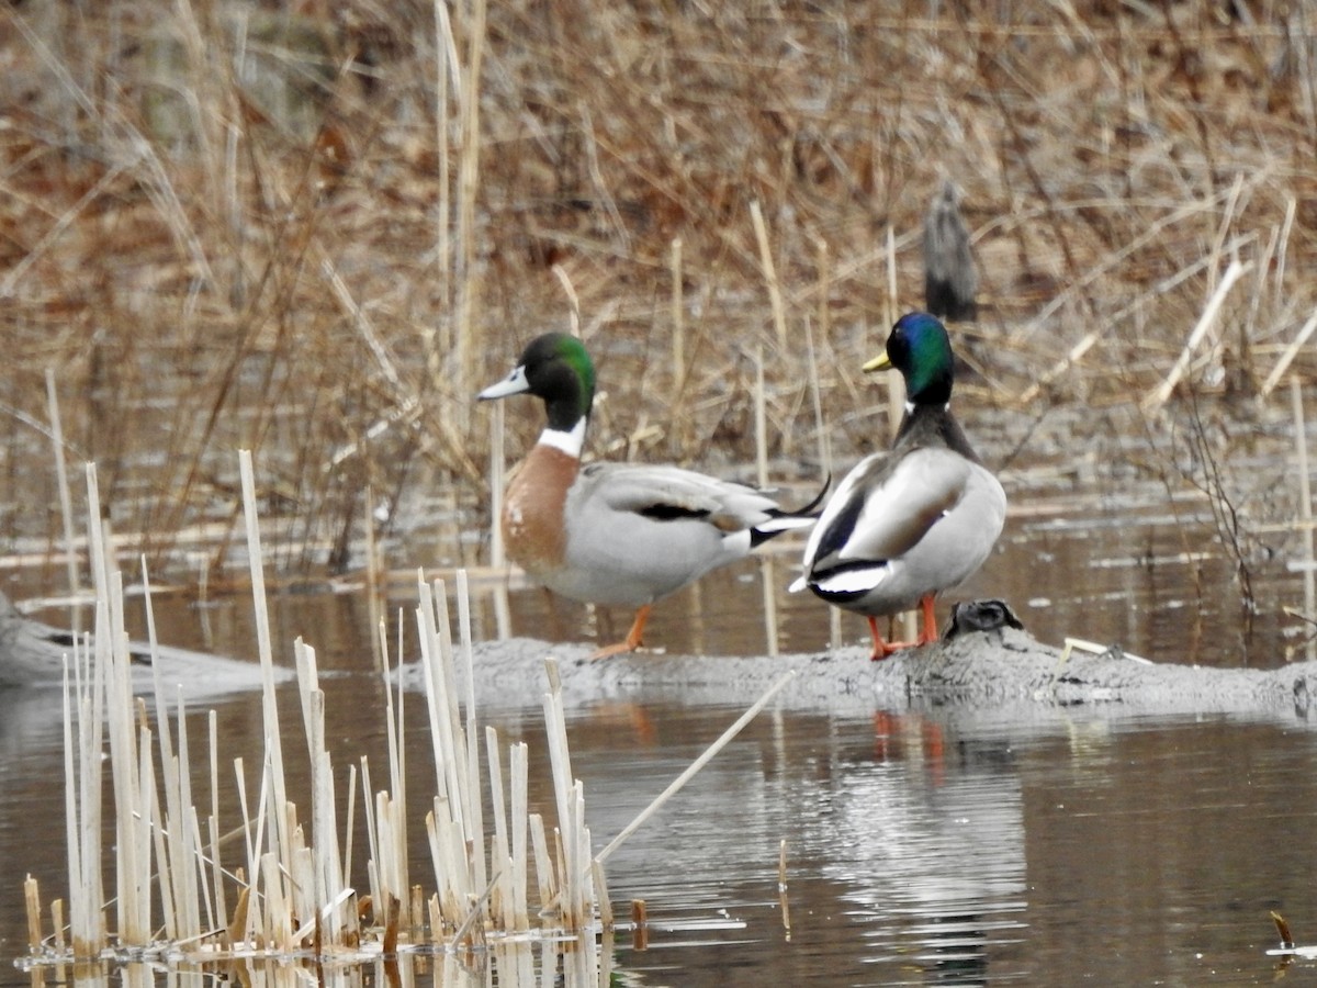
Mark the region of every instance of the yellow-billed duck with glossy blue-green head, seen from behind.
[[[889, 452], [863, 458], [828, 498], [805, 547], [809, 588], [869, 619], [873, 659], [936, 640], [932, 601], [988, 559], [1006, 518], [1006, 494], [975, 454], [950, 410], [947, 329], [927, 312], [902, 316], [865, 371], [896, 368], [906, 410]], [[919, 606], [915, 642], [889, 643], [877, 618]]]

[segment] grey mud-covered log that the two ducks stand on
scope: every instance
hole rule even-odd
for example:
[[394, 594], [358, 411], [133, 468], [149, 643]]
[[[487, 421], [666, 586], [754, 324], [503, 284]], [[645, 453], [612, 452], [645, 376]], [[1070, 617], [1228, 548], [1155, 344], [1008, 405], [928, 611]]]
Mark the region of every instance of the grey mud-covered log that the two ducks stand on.
[[[1009, 707], [1035, 711], [1085, 707], [1113, 714], [1283, 714], [1306, 718], [1317, 693], [1317, 663], [1272, 671], [1147, 664], [1122, 656], [1072, 652], [1002, 628], [907, 649], [881, 663], [867, 648], [776, 657], [699, 657], [635, 653], [602, 663], [586, 645], [511, 639], [475, 647], [481, 702], [535, 703], [544, 694], [543, 660], [557, 659], [570, 703], [610, 698], [741, 705], [794, 671], [781, 694], [790, 707]], [[407, 677], [419, 684], [419, 671]]]

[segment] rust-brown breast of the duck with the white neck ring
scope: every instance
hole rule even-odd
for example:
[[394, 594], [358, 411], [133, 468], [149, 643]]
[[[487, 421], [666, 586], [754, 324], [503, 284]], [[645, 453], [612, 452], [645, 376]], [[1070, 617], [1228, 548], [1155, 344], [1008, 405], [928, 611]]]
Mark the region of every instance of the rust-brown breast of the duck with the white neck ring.
[[574, 456], [536, 445], [507, 486], [503, 541], [508, 559], [531, 576], [562, 565], [568, 539], [562, 510], [579, 468]]

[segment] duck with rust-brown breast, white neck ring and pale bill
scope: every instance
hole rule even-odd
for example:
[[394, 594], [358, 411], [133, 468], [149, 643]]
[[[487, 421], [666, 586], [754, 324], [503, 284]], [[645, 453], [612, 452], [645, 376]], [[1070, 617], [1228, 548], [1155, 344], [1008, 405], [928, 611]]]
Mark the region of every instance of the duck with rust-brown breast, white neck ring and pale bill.
[[478, 398], [514, 394], [541, 398], [548, 423], [507, 487], [507, 555], [564, 597], [637, 609], [627, 638], [597, 659], [639, 648], [655, 601], [774, 535], [814, 523], [822, 493], [786, 511], [753, 487], [678, 466], [582, 466], [594, 364], [574, 336], [532, 340], [512, 373]]

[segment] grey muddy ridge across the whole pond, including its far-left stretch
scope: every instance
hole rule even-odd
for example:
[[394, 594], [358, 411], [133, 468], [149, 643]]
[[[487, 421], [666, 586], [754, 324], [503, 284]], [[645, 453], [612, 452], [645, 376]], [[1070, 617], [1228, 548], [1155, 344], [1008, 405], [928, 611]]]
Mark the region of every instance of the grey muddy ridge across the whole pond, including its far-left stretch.
[[[145, 645], [132, 645], [133, 685], [150, 692], [155, 671]], [[0, 688], [58, 685], [67, 631], [32, 620], [0, 595]], [[547, 689], [544, 660], [558, 663], [564, 700], [585, 706], [608, 700], [744, 706], [785, 672], [794, 680], [777, 702], [792, 709], [855, 711], [979, 710], [988, 715], [1038, 717], [1044, 711], [1110, 711], [1114, 715], [1268, 714], [1306, 719], [1317, 694], [1317, 663], [1271, 671], [1147, 664], [1113, 649], [1073, 652], [1038, 642], [1027, 631], [971, 631], [925, 648], [869, 661], [868, 648], [780, 656], [678, 656], [639, 652], [591, 661], [593, 645], [536, 639], [483, 642], [474, 647], [478, 702], [500, 707], [539, 705]], [[170, 696], [209, 701], [259, 689], [255, 661], [161, 647], [161, 678]], [[461, 669], [461, 663], [458, 663]], [[419, 665], [403, 671], [420, 688]], [[277, 681], [292, 677], [277, 668]], [[465, 685], [462, 686], [465, 696]], [[1014, 711], [1014, 713], [1011, 713]]]

